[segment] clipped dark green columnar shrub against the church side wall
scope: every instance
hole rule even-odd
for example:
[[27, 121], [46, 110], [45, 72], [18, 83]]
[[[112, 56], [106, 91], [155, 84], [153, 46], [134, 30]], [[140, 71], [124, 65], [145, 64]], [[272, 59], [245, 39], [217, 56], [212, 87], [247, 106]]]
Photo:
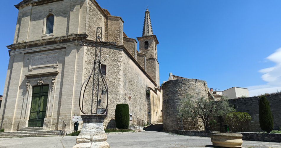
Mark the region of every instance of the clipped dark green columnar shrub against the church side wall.
[[117, 104], [115, 110], [115, 123], [119, 129], [127, 129], [130, 123], [129, 105]]

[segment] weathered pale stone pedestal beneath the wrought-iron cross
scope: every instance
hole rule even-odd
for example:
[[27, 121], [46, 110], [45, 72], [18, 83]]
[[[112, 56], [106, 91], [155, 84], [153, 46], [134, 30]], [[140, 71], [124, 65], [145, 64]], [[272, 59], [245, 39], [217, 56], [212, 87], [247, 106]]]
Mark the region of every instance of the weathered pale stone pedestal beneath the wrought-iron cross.
[[81, 115], [82, 130], [76, 137], [76, 145], [72, 148], [109, 148], [104, 132], [104, 119], [106, 114]]

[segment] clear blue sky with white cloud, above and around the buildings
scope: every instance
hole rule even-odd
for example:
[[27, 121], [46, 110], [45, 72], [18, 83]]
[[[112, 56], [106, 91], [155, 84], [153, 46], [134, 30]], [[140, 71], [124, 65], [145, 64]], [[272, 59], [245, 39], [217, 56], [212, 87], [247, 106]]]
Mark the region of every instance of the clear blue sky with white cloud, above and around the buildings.
[[[0, 9], [3, 94], [20, 0]], [[250, 96], [281, 91], [281, 1], [97, 0], [121, 16], [130, 38], [142, 35], [146, 4], [157, 36], [160, 82], [169, 73], [205, 80], [209, 88], [246, 87]], [[4, 22], [4, 23], [3, 23]]]

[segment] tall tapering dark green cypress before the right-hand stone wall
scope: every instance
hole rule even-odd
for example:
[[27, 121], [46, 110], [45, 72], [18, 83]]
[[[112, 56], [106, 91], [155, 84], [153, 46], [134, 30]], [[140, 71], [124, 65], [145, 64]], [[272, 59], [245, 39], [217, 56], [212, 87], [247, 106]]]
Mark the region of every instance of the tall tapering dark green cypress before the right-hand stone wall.
[[274, 127], [270, 104], [265, 96], [261, 96], [259, 101], [259, 124], [261, 129], [267, 131], [267, 133], [272, 131]]

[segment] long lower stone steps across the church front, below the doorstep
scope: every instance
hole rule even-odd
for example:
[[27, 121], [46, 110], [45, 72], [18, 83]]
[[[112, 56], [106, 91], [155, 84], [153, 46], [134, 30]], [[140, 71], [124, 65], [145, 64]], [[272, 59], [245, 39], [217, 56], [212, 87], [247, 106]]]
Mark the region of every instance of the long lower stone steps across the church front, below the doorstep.
[[39, 130], [39, 131], [13, 131], [1, 132], [0, 137], [34, 137], [34, 136], [62, 136], [62, 130]]

